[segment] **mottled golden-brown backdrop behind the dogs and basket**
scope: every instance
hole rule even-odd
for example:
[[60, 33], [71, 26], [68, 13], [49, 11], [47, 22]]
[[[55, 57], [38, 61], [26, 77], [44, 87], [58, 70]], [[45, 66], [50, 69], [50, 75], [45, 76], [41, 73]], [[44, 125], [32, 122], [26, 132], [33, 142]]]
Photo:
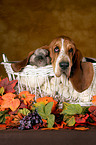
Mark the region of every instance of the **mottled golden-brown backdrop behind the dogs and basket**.
[[22, 60], [62, 34], [96, 57], [96, 0], [0, 0], [0, 61], [2, 53]]

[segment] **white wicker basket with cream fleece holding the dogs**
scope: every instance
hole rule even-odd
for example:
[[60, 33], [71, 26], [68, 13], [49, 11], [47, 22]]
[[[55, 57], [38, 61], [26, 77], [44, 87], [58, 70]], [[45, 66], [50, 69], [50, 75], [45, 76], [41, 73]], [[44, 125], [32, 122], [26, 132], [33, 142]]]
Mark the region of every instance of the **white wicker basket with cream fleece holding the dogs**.
[[96, 63], [93, 64], [95, 70], [93, 84], [89, 87], [88, 92], [78, 93], [72, 88], [66, 77], [56, 78], [51, 65], [38, 68], [27, 65], [22, 72], [14, 72], [5, 54], [3, 54], [3, 61], [1, 64], [4, 65], [9, 80], [18, 80], [18, 93], [27, 90], [35, 93], [36, 98], [48, 95], [57, 98], [60, 102], [68, 101], [79, 103], [82, 106], [91, 105], [91, 97], [96, 95], [96, 91], [94, 92], [96, 90]]

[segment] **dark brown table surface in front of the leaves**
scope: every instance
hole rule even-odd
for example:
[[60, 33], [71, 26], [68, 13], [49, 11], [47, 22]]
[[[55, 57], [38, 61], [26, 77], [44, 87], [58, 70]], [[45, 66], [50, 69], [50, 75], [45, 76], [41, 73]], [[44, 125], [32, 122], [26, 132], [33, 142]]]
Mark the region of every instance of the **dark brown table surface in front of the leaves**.
[[96, 127], [86, 131], [60, 130], [0, 130], [0, 145], [95, 145]]

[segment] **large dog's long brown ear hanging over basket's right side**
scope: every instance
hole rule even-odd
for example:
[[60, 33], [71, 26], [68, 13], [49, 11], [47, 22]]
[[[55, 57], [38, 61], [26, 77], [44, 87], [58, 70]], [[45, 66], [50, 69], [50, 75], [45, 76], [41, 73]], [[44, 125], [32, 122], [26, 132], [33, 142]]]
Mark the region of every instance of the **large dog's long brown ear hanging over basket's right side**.
[[91, 62], [82, 62], [82, 54], [76, 50], [73, 64], [73, 74], [70, 81], [74, 89], [78, 92], [83, 92], [91, 85], [94, 70]]

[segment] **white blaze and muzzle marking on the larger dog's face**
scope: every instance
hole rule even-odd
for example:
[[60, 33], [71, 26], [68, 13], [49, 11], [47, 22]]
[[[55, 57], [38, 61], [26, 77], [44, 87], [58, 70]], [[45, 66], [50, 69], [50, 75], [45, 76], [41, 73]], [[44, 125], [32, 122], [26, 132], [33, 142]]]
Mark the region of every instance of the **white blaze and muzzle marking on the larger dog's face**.
[[59, 69], [59, 63], [61, 61], [69, 61], [70, 62], [69, 56], [65, 54], [64, 39], [61, 39], [61, 44], [62, 44], [62, 46], [61, 46], [60, 54], [57, 58], [56, 65], [55, 65], [55, 74], [56, 75], [61, 75], [61, 72]]

